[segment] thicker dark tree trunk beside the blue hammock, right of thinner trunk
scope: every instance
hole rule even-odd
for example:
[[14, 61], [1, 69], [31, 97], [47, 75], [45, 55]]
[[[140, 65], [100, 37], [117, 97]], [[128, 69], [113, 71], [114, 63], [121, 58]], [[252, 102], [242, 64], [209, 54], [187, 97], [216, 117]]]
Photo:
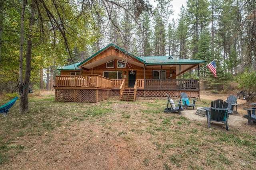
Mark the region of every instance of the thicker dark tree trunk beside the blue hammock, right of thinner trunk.
[[33, 29], [32, 26], [34, 25], [35, 20], [35, 2], [34, 0], [31, 1], [31, 14], [30, 14], [30, 22], [29, 22], [29, 31], [28, 31], [28, 41], [27, 41], [27, 51], [26, 51], [26, 71], [25, 71], [25, 78], [24, 83], [22, 84], [22, 94], [23, 94], [23, 101], [20, 103], [22, 107], [20, 107], [20, 113], [28, 113], [28, 84], [30, 81], [30, 73], [31, 73], [31, 53], [32, 53], [32, 33]]

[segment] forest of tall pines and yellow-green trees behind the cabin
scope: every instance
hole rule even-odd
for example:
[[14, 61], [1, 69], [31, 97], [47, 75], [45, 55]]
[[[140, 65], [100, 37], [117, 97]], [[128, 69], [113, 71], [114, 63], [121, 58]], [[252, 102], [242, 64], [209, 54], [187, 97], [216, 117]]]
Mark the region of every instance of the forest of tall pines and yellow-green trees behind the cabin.
[[[135, 56], [215, 60], [217, 78], [200, 70], [205, 90], [256, 75], [256, 0], [187, 0], [181, 9], [172, 0], [150, 2], [0, 0], [0, 94], [53, 90], [57, 68], [110, 43]], [[173, 10], [179, 18], [169, 20]]]

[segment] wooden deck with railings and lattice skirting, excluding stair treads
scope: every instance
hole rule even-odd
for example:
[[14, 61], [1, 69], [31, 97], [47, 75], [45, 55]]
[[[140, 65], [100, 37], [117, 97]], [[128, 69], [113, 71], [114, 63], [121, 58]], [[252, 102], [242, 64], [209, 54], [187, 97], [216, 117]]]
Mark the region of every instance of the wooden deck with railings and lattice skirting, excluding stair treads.
[[[55, 100], [66, 102], [98, 102], [110, 96], [120, 96], [124, 91], [125, 80], [112, 80], [100, 75], [56, 76]], [[134, 86], [136, 96], [162, 97], [166, 93], [180, 97], [186, 92], [189, 97], [200, 98], [199, 80], [187, 79], [137, 79]]]

